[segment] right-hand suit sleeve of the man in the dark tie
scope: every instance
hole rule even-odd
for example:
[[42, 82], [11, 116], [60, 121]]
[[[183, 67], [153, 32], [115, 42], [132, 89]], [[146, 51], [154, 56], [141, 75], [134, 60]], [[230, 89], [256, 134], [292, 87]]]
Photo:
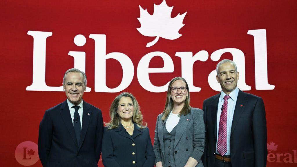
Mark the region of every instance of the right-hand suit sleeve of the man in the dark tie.
[[97, 163], [100, 159], [101, 149], [102, 149], [102, 137], [103, 137], [103, 119], [102, 119], [102, 112], [99, 110], [99, 118], [97, 121], [97, 129], [95, 135], [95, 153], [96, 153], [96, 160]]

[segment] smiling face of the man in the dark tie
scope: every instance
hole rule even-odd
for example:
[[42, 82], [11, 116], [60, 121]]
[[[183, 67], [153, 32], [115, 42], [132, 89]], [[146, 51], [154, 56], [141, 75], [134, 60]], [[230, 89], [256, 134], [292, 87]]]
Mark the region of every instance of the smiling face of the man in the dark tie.
[[83, 74], [77, 72], [67, 73], [63, 89], [70, 103], [78, 105], [83, 98], [83, 92], [86, 91]]

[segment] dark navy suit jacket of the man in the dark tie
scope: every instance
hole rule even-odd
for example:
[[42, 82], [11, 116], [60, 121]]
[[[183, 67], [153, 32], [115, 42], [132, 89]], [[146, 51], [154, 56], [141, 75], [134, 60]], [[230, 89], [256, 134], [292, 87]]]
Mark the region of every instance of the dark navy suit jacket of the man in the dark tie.
[[39, 126], [38, 154], [44, 167], [97, 167], [101, 154], [101, 110], [83, 101], [80, 143], [67, 100], [45, 111]]

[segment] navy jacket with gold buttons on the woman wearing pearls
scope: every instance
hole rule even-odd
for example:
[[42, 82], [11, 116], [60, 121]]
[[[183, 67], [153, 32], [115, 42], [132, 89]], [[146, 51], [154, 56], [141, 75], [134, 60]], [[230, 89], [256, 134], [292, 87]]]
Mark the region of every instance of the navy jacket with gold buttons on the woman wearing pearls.
[[104, 128], [102, 161], [105, 167], [153, 167], [155, 158], [149, 128], [141, 129], [134, 123], [132, 136], [122, 124], [110, 130]]

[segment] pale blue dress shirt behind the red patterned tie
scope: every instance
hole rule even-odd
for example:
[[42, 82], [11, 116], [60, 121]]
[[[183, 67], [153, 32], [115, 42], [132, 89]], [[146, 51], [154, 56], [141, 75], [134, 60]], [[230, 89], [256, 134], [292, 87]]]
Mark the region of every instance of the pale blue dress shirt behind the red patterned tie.
[[[228, 110], [227, 110], [227, 153], [225, 155], [230, 155], [230, 134], [231, 134], [231, 126], [232, 126], [232, 121], [233, 121], [233, 115], [234, 115], [234, 109], [235, 109], [235, 104], [237, 101], [237, 96], [238, 96], [238, 88], [236, 87], [230, 94], [229, 96], [231, 98], [228, 99]], [[219, 97], [219, 105], [218, 105], [218, 113], [217, 113], [217, 146], [216, 146], [216, 152], [218, 152], [218, 138], [219, 138], [219, 123], [220, 123], [220, 116], [222, 113], [222, 105], [224, 104], [224, 97], [225, 93], [222, 91], [221, 95]]]

